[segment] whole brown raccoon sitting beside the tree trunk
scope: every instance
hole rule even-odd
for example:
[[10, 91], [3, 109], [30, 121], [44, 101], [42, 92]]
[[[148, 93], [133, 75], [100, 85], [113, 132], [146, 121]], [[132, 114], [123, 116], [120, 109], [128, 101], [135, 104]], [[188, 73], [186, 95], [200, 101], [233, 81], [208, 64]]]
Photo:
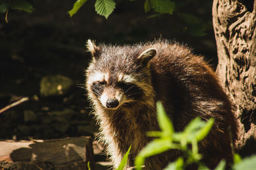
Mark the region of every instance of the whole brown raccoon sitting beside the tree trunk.
[[[86, 89], [100, 126], [100, 138], [108, 146], [113, 166], [120, 164], [131, 145], [127, 169], [152, 140], [148, 131], [159, 131], [156, 102], [161, 101], [175, 131], [182, 131], [195, 117], [214, 118], [214, 125], [198, 143], [207, 167], [221, 159], [232, 162], [237, 123], [231, 104], [203, 57], [176, 42], [159, 39], [136, 45], [87, 48], [92, 62], [86, 70]], [[145, 161], [145, 169], [163, 169], [180, 156], [170, 150]]]

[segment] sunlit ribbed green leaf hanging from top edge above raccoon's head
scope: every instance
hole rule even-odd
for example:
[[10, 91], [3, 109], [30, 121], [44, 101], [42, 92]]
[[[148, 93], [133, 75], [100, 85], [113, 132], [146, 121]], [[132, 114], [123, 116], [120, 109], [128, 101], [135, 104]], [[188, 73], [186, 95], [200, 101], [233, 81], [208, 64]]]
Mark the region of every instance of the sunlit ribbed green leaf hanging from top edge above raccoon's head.
[[113, 0], [96, 0], [95, 11], [108, 19], [108, 16], [115, 9], [116, 3]]

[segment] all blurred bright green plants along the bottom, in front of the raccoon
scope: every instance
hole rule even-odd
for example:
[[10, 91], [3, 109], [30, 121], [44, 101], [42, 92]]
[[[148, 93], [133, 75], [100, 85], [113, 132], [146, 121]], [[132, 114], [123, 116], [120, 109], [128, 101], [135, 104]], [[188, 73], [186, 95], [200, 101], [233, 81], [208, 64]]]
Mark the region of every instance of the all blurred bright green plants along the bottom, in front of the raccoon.
[[[156, 137], [153, 141], [148, 143], [139, 155], [135, 159], [136, 169], [142, 169], [145, 159], [159, 153], [166, 152], [171, 149], [179, 149], [186, 155], [186, 157], [179, 157], [175, 162], [170, 162], [164, 170], [180, 170], [186, 169], [190, 164], [197, 164], [198, 169], [209, 169], [207, 168], [200, 160], [202, 155], [198, 153], [198, 141], [207, 136], [211, 127], [214, 123], [214, 120], [211, 118], [208, 122], [200, 120], [200, 118], [195, 118], [192, 120], [183, 132], [175, 132], [171, 120], [167, 117], [164, 112], [163, 105], [157, 103], [157, 118], [159, 122], [159, 127], [161, 131], [159, 132], [148, 132], [148, 136]], [[191, 147], [189, 147], [191, 146]], [[118, 167], [118, 170], [124, 169], [124, 162], [127, 162], [128, 152], [125, 153], [124, 159], [122, 160], [122, 166]], [[244, 170], [244, 169], [253, 169], [255, 167], [256, 155], [252, 157], [247, 157], [241, 159], [237, 153], [234, 155], [234, 165], [232, 169], [234, 170]], [[225, 160], [221, 160], [215, 170], [224, 170], [225, 169]]]

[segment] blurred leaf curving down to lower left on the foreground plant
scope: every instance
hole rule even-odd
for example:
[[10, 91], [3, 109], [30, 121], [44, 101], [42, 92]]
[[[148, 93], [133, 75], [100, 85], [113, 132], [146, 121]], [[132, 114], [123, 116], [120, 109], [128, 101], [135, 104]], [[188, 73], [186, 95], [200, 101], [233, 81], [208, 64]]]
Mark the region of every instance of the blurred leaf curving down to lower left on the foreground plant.
[[143, 150], [139, 153], [139, 155], [135, 159], [136, 169], [141, 169], [143, 166], [145, 158], [150, 157], [152, 155], [157, 155], [158, 153], [165, 152], [172, 148], [172, 143], [169, 139], [155, 139], [148, 143]]

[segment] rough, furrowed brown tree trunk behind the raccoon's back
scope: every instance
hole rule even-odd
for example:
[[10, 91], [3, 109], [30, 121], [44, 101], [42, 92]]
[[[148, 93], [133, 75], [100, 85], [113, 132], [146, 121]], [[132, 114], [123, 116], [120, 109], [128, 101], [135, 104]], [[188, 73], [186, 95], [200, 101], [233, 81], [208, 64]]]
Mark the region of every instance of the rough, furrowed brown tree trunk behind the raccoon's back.
[[219, 59], [216, 73], [239, 122], [237, 149], [250, 155], [256, 148], [256, 0], [248, 8], [241, 2], [214, 0], [212, 15]]

